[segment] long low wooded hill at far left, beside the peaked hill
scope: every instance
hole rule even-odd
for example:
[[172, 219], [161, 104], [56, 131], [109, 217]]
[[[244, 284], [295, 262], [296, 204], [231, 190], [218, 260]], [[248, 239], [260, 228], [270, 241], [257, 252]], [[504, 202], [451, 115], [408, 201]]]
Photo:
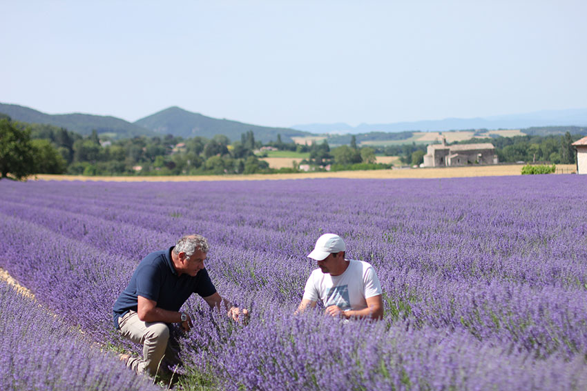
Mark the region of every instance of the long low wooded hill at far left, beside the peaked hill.
[[124, 119], [102, 117], [93, 114], [46, 114], [32, 108], [0, 103], [0, 112], [8, 114], [14, 121], [28, 123], [46, 123], [59, 128], [66, 128], [82, 136], [88, 136], [92, 130], [98, 134], [107, 134], [113, 139], [129, 139], [135, 136], [155, 136], [155, 132], [142, 128]]

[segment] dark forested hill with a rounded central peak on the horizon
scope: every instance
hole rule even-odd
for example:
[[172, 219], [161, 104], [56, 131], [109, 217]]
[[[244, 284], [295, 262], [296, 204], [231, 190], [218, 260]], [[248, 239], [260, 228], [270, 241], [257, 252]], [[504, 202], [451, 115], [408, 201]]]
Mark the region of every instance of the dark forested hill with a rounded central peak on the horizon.
[[289, 128], [269, 128], [249, 125], [228, 119], [215, 119], [202, 114], [189, 112], [178, 107], [171, 107], [135, 122], [159, 134], [173, 134], [175, 137], [191, 138], [195, 136], [211, 139], [215, 134], [224, 134], [231, 141], [240, 139], [241, 134], [252, 130], [255, 139], [267, 143], [276, 141], [278, 134], [284, 142], [291, 142], [291, 137], [308, 136], [311, 133]]

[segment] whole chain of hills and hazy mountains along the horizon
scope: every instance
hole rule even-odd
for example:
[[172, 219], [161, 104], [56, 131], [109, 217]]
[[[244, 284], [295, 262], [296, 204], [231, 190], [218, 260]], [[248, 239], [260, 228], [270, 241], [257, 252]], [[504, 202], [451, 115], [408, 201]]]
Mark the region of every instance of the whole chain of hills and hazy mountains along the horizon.
[[[471, 119], [447, 118], [398, 123], [361, 123], [349, 126], [347, 123], [314, 123], [297, 125], [292, 128], [272, 128], [251, 125], [229, 119], [215, 119], [203, 114], [189, 112], [177, 106], [171, 106], [133, 123], [112, 116], [70, 113], [46, 114], [38, 110], [15, 104], [0, 103], [0, 113], [8, 114], [15, 121], [28, 123], [48, 123], [67, 128], [87, 136], [92, 130], [99, 134], [108, 134], [115, 139], [136, 136], [153, 137], [173, 134], [184, 138], [206, 137], [224, 134], [231, 141], [238, 141], [241, 134], [253, 131], [258, 141], [267, 143], [277, 141], [278, 134], [282, 141], [291, 142], [291, 137], [316, 136], [318, 134], [362, 134], [370, 132], [406, 132], [406, 131], [448, 131], [471, 129], [524, 129], [544, 126], [587, 126], [587, 109], [541, 110], [526, 114], [507, 114]], [[297, 128], [296, 128], [297, 127]]]

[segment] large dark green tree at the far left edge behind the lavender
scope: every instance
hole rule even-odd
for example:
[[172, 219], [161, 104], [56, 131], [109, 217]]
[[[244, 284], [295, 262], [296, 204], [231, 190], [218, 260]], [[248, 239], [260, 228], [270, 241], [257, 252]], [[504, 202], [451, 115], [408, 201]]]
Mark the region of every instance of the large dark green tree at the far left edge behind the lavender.
[[0, 119], [0, 172], [17, 180], [35, 173], [34, 148], [30, 143], [30, 130], [17, 129], [9, 119]]

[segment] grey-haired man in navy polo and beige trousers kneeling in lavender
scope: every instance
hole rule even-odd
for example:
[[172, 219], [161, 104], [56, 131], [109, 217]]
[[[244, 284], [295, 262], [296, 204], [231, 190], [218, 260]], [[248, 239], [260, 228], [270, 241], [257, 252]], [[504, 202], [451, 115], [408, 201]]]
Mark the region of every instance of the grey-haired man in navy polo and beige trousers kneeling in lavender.
[[155, 375], [165, 359], [177, 363], [170, 340], [169, 323], [181, 323], [184, 331], [193, 326], [189, 314], [180, 308], [192, 293], [199, 294], [211, 308], [224, 306], [229, 317], [247, 319], [247, 310], [240, 310], [222, 299], [208, 272], [204, 259], [209, 250], [206, 238], [185, 235], [175, 247], [151, 252], [137, 266], [131, 282], [114, 303], [114, 326], [126, 338], [143, 345], [143, 357], [121, 354], [120, 359], [137, 373]]

